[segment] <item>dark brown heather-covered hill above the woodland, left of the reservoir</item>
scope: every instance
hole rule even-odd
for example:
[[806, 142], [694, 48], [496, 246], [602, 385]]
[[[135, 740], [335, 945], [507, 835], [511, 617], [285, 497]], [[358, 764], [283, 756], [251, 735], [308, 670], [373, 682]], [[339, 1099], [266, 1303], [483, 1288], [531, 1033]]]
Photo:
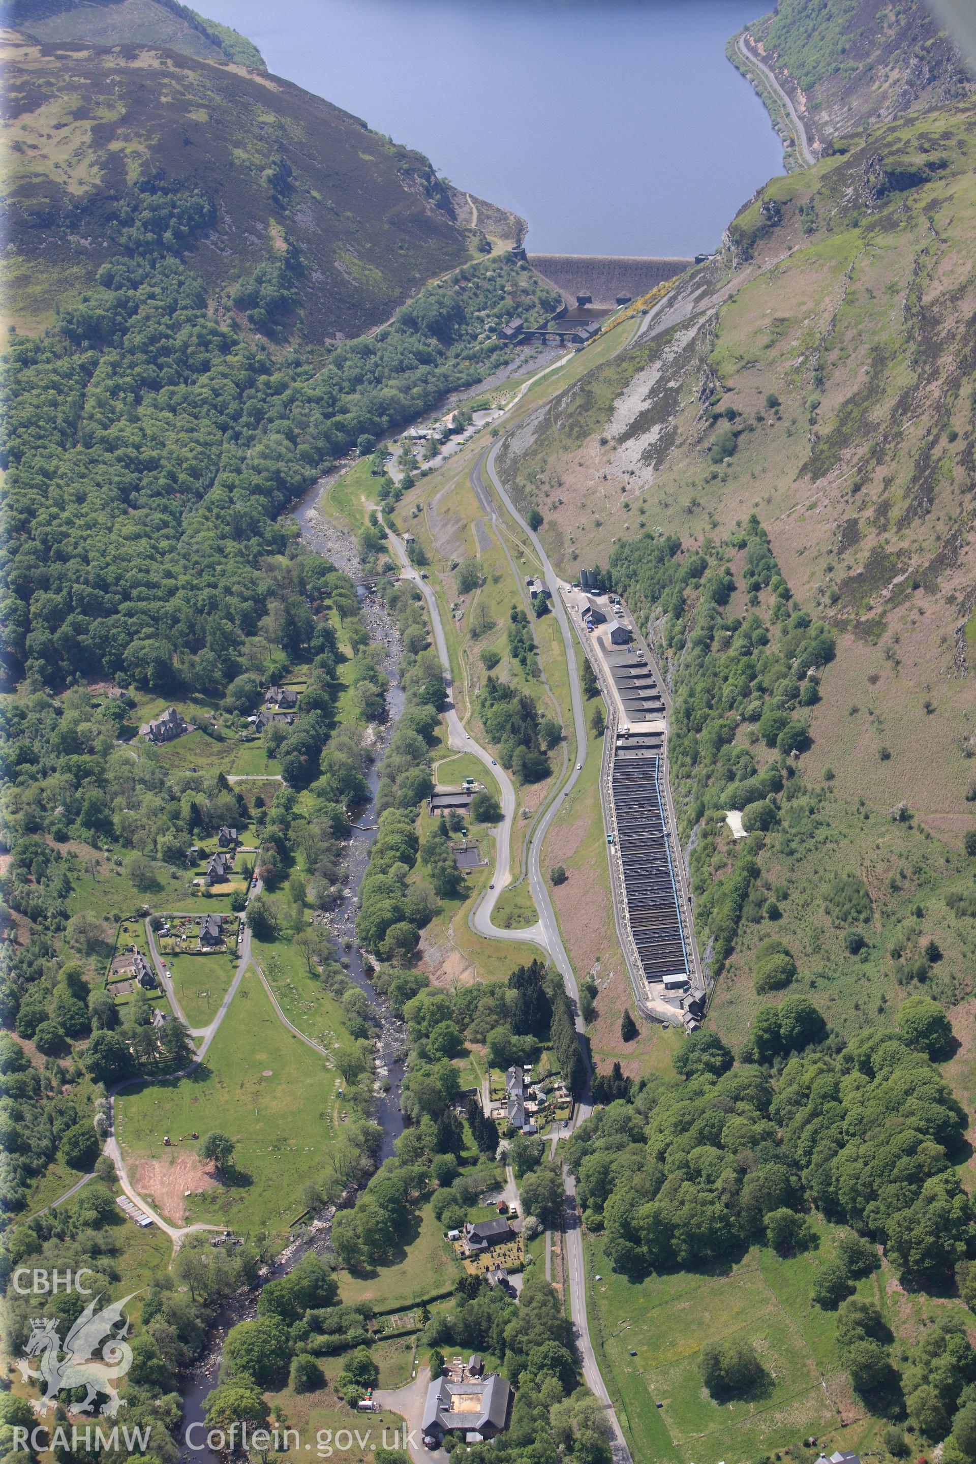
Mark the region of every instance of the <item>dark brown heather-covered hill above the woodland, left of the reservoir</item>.
[[281, 78], [22, 37], [6, 63], [15, 322], [50, 321], [135, 239], [241, 322], [310, 341], [361, 334], [468, 258], [421, 154]]

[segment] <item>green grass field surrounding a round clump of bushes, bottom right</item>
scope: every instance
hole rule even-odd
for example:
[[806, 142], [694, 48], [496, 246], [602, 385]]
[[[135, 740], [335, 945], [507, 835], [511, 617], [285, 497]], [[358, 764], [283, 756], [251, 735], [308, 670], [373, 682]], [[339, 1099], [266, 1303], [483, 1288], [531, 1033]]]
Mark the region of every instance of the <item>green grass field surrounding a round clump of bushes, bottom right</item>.
[[[837, 1315], [809, 1301], [840, 1234], [825, 1224], [818, 1231], [819, 1250], [792, 1259], [754, 1247], [736, 1263], [638, 1284], [610, 1269], [598, 1236], [587, 1240], [594, 1344], [637, 1458], [757, 1460], [809, 1435], [830, 1454], [863, 1448], [879, 1430], [878, 1420], [857, 1422], [865, 1410], [838, 1354]], [[885, 1268], [857, 1284], [885, 1316], [891, 1280]], [[752, 1398], [717, 1404], [698, 1359], [704, 1342], [727, 1338], [755, 1345], [770, 1383]]]

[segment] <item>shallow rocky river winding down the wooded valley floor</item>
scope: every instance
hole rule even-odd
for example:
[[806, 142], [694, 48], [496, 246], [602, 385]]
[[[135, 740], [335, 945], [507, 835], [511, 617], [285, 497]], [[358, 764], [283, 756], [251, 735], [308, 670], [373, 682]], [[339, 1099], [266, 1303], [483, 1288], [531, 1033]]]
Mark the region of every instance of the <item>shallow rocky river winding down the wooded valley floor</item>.
[[[344, 574], [356, 578], [360, 572], [356, 540], [344, 529], [339, 529], [332, 523], [326, 523], [326, 520], [318, 515], [316, 504], [320, 493], [322, 483], [319, 482], [309, 489], [304, 498], [301, 498], [293, 509], [301, 529], [301, 537], [310, 549], [331, 559], [337, 569], [342, 569]], [[342, 960], [350, 978], [361, 987], [380, 1019], [382, 1047], [378, 1056], [378, 1067], [388, 1086], [385, 1086], [383, 1092], [378, 1094], [376, 1113], [373, 1117], [383, 1130], [379, 1151], [379, 1162], [382, 1164], [383, 1159], [392, 1157], [394, 1143], [404, 1130], [404, 1120], [399, 1111], [399, 1085], [404, 1076], [407, 1037], [402, 1023], [391, 1015], [386, 1003], [378, 996], [366, 974], [366, 966], [363, 965], [359, 946], [356, 944], [356, 902], [359, 897], [359, 887], [363, 881], [363, 874], [366, 873], [366, 867], [369, 864], [369, 848], [376, 837], [376, 788], [379, 785], [379, 763], [386, 744], [389, 742], [389, 736], [397, 726], [399, 714], [404, 710], [404, 692], [397, 676], [397, 663], [402, 653], [402, 646], [399, 643], [399, 634], [394, 618], [389, 615], [382, 600], [379, 600], [375, 594], [369, 594], [366, 597], [363, 615], [369, 628], [370, 641], [386, 647], [386, 657], [382, 663], [383, 671], [389, 676], [389, 688], [386, 691], [386, 722], [379, 729], [378, 739], [373, 744], [373, 763], [367, 769], [366, 774], [366, 780], [369, 783], [369, 802], [357, 808], [353, 836], [345, 849], [345, 865], [348, 868], [345, 889], [348, 890], [348, 895], [345, 895], [337, 909], [329, 914], [328, 930], [335, 937], [337, 955]], [[309, 1177], [312, 1179], [313, 1176]], [[274, 1277], [287, 1275], [296, 1262], [300, 1261], [301, 1256], [306, 1256], [310, 1250], [322, 1253], [329, 1249], [331, 1211], [325, 1211], [323, 1217], [325, 1218], [319, 1217], [315, 1220], [309, 1228], [300, 1230], [296, 1239], [268, 1268], [259, 1284], [247, 1293], [231, 1297], [227, 1306], [221, 1307], [219, 1313], [214, 1319], [209, 1347], [205, 1356], [198, 1359], [195, 1363], [193, 1376], [183, 1389], [183, 1439], [186, 1441], [187, 1429], [193, 1426], [196, 1427], [192, 1435], [195, 1444], [184, 1444], [181, 1458], [217, 1458], [217, 1455], [211, 1454], [205, 1445], [198, 1444], [196, 1441], [205, 1433], [202, 1427], [203, 1408], [206, 1405], [208, 1394], [217, 1386], [227, 1331], [237, 1322], [243, 1322], [247, 1318], [258, 1315], [258, 1296], [260, 1287], [266, 1281], [271, 1281]]]

